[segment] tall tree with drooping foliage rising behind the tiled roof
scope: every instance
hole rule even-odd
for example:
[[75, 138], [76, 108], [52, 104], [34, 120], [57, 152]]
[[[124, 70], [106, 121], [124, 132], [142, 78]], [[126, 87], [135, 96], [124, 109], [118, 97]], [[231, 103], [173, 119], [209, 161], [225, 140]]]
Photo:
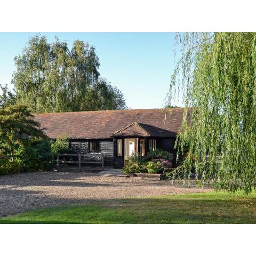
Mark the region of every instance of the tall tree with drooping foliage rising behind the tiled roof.
[[[17, 103], [28, 106], [33, 113], [126, 107], [122, 93], [116, 93], [106, 82], [100, 86], [99, 59], [88, 43], [77, 40], [69, 50], [67, 43], [57, 37], [50, 44], [45, 36], [34, 36], [14, 61], [17, 70], [12, 82]], [[95, 88], [97, 95], [92, 94]], [[94, 95], [97, 103], [88, 102], [94, 101]]]

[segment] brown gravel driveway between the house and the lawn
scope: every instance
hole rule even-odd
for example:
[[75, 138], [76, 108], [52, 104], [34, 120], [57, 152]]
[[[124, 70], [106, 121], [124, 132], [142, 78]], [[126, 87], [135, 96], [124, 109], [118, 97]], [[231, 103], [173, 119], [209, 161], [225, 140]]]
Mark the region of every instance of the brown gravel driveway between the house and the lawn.
[[154, 178], [92, 173], [41, 172], [0, 176], [0, 217], [38, 207], [86, 204], [99, 199], [199, 193]]

